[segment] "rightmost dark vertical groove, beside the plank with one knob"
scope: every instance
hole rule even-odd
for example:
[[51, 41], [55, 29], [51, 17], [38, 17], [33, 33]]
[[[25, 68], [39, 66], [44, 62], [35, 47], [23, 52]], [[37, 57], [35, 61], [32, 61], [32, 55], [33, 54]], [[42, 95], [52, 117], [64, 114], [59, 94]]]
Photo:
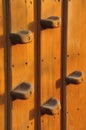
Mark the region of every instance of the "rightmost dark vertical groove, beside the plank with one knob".
[[62, 31], [61, 31], [61, 130], [66, 130], [66, 69], [67, 69], [67, 22], [68, 22], [68, 0], [62, 0]]

